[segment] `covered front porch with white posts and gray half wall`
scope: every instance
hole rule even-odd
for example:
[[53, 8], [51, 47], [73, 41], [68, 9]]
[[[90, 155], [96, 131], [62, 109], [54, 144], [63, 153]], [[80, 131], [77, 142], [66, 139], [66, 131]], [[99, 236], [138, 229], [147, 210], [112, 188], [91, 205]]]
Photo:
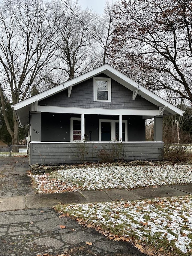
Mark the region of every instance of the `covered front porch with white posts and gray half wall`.
[[[70, 108], [67, 112], [66, 108], [60, 108], [58, 113], [54, 112], [55, 107], [51, 109], [43, 106], [41, 112], [31, 112], [30, 164], [101, 161], [102, 151], [113, 151], [115, 161], [163, 157], [163, 116], [159, 116], [158, 110], [141, 113], [141, 110], [95, 109], [90, 113], [90, 109]], [[145, 121], [150, 117], [154, 117], [154, 141], [146, 142]]]

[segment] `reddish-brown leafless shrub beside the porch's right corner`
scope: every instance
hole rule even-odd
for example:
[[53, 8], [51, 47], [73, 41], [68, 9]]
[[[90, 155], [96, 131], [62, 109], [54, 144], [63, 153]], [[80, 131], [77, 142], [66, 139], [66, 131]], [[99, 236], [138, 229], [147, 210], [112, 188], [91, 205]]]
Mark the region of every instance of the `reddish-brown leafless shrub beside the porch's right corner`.
[[164, 159], [169, 161], [187, 161], [189, 154], [185, 144], [164, 144]]

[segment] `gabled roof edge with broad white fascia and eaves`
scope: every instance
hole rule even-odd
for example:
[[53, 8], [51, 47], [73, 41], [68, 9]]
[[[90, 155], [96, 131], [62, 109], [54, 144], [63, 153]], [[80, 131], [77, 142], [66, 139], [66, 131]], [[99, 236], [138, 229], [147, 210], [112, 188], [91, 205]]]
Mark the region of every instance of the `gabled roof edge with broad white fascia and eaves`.
[[63, 90], [67, 89], [70, 86], [75, 86], [79, 83], [82, 83], [85, 80], [88, 80], [91, 77], [95, 77], [98, 74], [104, 73], [108, 77], [111, 77], [113, 80], [117, 81], [118, 83], [122, 84], [126, 88], [130, 89], [131, 91], [138, 91], [138, 95], [145, 98], [146, 100], [150, 101], [151, 103], [155, 104], [158, 107], [166, 107], [164, 113], [166, 114], [179, 114], [182, 116], [183, 111], [179, 108], [175, 107], [174, 105], [170, 104], [163, 98], [159, 97], [155, 93], [149, 91], [145, 87], [141, 86], [131, 78], [127, 77], [126, 75], [122, 74], [116, 68], [113, 68], [109, 64], [104, 64], [98, 68], [95, 68], [85, 74], [79, 75], [71, 80], [68, 80], [64, 83], [61, 83], [58, 86], [55, 86], [51, 89], [48, 89], [44, 92], [39, 93], [38, 95], [32, 96], [24, 101], [21, 101], [15, 104], [13, 110], [16, 114], [16, 117], [19, 121], [20, 125], [25, 125], [29, 122], [29, 110], [32, 103], [36, 101], [43, 100], [48, 98], [54, 94], [62, 92]]

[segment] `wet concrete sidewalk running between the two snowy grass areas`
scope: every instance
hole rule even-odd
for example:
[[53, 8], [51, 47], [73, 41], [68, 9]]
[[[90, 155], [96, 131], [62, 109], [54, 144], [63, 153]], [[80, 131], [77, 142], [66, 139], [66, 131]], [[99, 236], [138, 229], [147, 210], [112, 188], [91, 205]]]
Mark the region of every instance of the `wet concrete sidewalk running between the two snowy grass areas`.
[[52, 207], [58, 202], [66, 204], [111, 201], [134, 201], [158, 197], [174, 197], [192, 194], [192, 185], [162, 186], [135, 190], [112, 189], [106, 191], [79, 191], [55, 194], [26, 194], [0, 197], [0, 211]]

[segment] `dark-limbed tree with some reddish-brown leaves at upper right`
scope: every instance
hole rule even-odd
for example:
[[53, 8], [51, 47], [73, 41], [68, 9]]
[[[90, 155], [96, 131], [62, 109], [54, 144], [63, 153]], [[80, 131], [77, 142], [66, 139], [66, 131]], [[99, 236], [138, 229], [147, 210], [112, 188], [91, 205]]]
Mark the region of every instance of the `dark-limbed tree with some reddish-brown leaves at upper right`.
[[113, 43], [119, 69], [128, 66], [149, 89], [192, 101], [191, 20], [190, 0], [122, 0]]

